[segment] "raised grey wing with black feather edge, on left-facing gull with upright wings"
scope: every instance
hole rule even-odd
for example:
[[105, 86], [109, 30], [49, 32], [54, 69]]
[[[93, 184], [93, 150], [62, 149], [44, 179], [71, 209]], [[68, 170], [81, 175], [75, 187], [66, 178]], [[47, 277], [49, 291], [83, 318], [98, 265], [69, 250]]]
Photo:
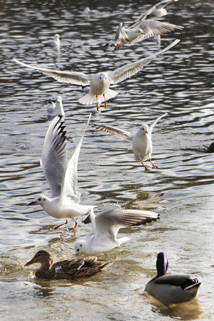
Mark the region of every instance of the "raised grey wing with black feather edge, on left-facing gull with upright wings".
[[68, 162], [64, 128], [64, 118], [54, 117], [47, 129], [40, 159], [52, 198], [60, 196], [64, 169]]

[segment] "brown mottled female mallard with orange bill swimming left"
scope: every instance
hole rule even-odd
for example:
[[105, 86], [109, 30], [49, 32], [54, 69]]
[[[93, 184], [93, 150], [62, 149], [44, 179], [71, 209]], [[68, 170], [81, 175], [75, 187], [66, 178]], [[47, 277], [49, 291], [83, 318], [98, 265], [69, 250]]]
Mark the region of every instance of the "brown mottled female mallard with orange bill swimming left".
[[98, 256], [82, 256], [71, 260], [59, 261], [53, 264], [50, 252], [41, 250], [37, 252], [30, 262], [24, 266], [40, 263], [36, 271], [36, 278], [45, 280], [80, 280], [104, 271], [114, 262], [98, 260]]

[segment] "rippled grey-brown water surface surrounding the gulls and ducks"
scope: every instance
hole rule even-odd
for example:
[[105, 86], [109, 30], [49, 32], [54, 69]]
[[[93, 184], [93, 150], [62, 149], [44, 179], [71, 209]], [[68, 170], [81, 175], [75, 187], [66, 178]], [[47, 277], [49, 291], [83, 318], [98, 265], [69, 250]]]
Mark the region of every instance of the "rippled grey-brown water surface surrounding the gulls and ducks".
[[[85, 19], [87, 5], [99, 15]], [[105, 47], [119, 22], [128, 25], [148, 8], [128, 0], [106, 5], [65, 0], [2, 3], [1, 320], [212, 320], [214, 158], [206, 153], [214, 130], [212, 0], [180, 0], [168, 6], [166, 21], [185, 29], [163, 36], [160, 48], [176, 36], [181, 42], [139, 74], [111, 86], [119, 94], [101, 113], [78, 103], [80, 86], [56, 82], [11, 60], [14, 56], [49, 68], [93, 73], [114, 70], [159, 49], [157, 42], [147, 40], [117, 51]], [[62, 36], [60, 51], [43, 48], [39, 41], [56, 32]], [[131, 240], [107, 253], [114, 265], [76, 283], [39, 281], [32, 276], [36, 267], [23, 268], [41, 248], [55, 260], [74, 257], [74, 242], [90, 230], [79, 219], [75, 236], [73, 222], [55, 231], [64, 220], [26, 205], [35, 195], [49, 193], [39, 160], [49, 124], [47, 99], [57, 94], [63, 99], [70, 154], [90, 110], [92, 122], [131, 133], [168, 113], [152, 136], [152, 160], [159, 168], [146, 173], [134, 160], [130, 142], [87, 129], [78, 165], [82, 204], [155, 210], [160, 220], [120, 230]], [[169, 273], [198, 272], [203, 281], [198, 299], [167, 309], [139, 295], [156, 274], [160, 251], [167, 254]]]

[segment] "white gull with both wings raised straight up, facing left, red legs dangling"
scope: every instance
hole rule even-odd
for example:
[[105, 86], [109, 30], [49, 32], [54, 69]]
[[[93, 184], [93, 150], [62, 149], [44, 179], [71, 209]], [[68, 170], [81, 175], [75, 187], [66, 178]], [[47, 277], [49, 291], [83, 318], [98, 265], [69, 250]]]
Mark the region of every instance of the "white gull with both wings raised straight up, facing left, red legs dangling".
[[[77, 191], [77, 164], [85, 130], [68, 161], [64, 128], [64, 119], [59, 116], [54, 117], [48, 127], [42, 149], [40, 165], [50, 186], [51, 198], [40, 194], [28, 205], [41, 205], [48, 215], [65, 218], [64, 224], [68, 223], [67, 218], [72, 218], [75, 221], [75, 230], [76, 217], [86, 214], [95, 206], [79, 204], [81, 194]], [[58, 225], [54, 229], [56, 230], [64, 224]]]

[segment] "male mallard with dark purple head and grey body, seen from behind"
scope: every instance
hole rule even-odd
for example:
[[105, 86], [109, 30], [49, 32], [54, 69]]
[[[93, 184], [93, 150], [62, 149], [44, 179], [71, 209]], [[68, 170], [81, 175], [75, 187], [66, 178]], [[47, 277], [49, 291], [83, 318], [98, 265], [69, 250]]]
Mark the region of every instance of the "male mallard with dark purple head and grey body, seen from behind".
[[144, 291], [169, 306], [188, 302], [197, 297], [202, 282], [193, 279], [192, 274], [168, 274], [168, 260], [164, 252], [158, 253], [156, 267], [158, 274], [146, 284]]

